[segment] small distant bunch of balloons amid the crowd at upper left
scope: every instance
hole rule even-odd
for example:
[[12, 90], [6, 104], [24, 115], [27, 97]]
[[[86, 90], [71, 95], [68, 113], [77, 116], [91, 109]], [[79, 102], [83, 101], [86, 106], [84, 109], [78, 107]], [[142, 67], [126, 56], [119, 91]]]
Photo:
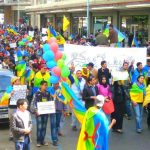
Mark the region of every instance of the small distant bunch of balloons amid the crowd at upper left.
[[24, 45], [27, 45], [29, 47], [32, 47], [32, 37], [31, 36], [28, 36], [27, 34], [24, 35], [24, 38], [18, 42], [18, 45], [19, 46], [24, 46]]

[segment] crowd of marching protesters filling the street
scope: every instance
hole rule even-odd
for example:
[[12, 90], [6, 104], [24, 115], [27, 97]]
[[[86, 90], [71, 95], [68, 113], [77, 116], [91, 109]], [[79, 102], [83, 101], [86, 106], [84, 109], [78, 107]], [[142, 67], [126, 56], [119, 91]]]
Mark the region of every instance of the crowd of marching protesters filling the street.
[[[115, 31], [112, 31], [113, 26], [110, 26], [110, 28], [110, 46], [115, 47], [117, 44], [117, 34], [114, 33]], [[12, 33], [6, 31], [1, 26], [3, 34], [0, 35], [0, 67], [1, 69], [8, 69], [14, 72], [15, 76], [11, 80], [12, 86], [27, 85], [28, 87], [27, 99], [19, 99], [15, 106], [11, 105], [9, 101], [10, 140], [15, 141], [16, 150], [30, 149], [30, 134], [32, 131], [30, 113], [32, 113], [36, 118], [37, 147], [48, 145], [45, 141], [45, 135], [49, 117], [52, 144], [57, 146], [58, 136], [63, 135], [63, 129], [60, 128], [62, 117], [71, 114], [71, 127], [73, 131], [77, 131], [80, 125], [74, 112], [70, 110], [68, 104], [64, 103], [65, 96], [61, 88], [61, 83], [50, 83], [51, 70], [42, 58], [43, 49], [41, 45], [46, 43], [46, 41], [41, 41], [37, 34], [30, 39], [31, 44], [20, 45], [19, 41], [26, 36], [26, 32], [20, 30], [19, 33], [22, 34], [14, 34], [14, 31]], [[100, 43], [100, 45], [105, 45], [105, 41], [107, 40], [104, 38], [103, 40], [104, 43]], [[16, 43], [16, 46], [13, 48], [10, 47], [11, 43]], [[149, 51], [148, 48], [148, 55]], [[27, 66], [21, 72], [21, 75], [17, 70], [17, 65], [20, 62], [22, 65], [26, 64]], [[124, 61], [120, 71], [127, 72], [128, 79], [119, 81], [113, 81], [111, 70], [107, 68], [105, 60], [100, 65], [98, 70], [94, 67], [93, 62], [84, 64], [80, 70], [76, 70], [73, 63], [69, 66], [70, 74], [66, 82], [75, 93], [79, 102], [83, 103], [85, 108], [89, 110], [95, 105], [98, 106], [97, 103], [99, 102], [96, 102], [97, 96], [102, 95], [105, 102], [101, 107], [110, 123], [115, 120], [112, 131], [117, 133], [123, 133], [124, 116], [128, 120], [135, 117], [136, 132], [141, 133], [142, 114], [145, 107], [148, 111], [147, 125], [150, 129], [150, 104], [146, 103], [143, 107], [144, 99], [149, 99], [150, 60], [147, 60], [146, 66], [138, 62], [136, 68], [134, 68], [133, 62], [129, 64], [127, 61]], [[29, 72], [30, 77], [28, 76]], [[13, 90], [11, 91], [12, 95]], [[37, 103], [48, 101], [55, 101], [56, 112], [50, 115], [39, 114]], [[133, 106], [135, 115], [133, 115], [131, 106]]]

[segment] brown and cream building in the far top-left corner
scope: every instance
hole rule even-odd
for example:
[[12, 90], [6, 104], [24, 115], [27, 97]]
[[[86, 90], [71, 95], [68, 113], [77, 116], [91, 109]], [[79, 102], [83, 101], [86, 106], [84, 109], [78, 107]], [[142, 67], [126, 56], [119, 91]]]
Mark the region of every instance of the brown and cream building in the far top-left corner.
[[27, 21], [25, 7], [31, 5], [31, 0], [0, 0], [0, 14], [8, 24]]

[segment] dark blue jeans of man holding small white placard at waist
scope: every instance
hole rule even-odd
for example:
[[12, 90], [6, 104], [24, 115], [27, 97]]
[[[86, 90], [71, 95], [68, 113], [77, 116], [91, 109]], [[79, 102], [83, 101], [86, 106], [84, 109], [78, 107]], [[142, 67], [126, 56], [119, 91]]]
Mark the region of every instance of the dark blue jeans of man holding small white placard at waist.
[[40, 115], [36, 117], [37, 121], [37, 143], [43, 144], [45, 135], [46, 135], [46, 128], [47, 128], [47, 120], [48, 115]]

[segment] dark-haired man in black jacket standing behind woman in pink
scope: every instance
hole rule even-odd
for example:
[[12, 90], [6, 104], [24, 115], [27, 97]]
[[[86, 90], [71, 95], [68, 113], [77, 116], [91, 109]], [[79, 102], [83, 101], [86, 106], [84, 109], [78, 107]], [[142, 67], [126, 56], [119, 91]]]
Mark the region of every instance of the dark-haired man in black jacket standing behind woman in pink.
[[98, 80], [99, 80], [99, 83], [100, 83], [100, 81], [101, 81], [103, 76], [106, 77], [106, 82], [107, 82], [107, 84], [109, 84], [109, 79], [111, 78], [111, 72], [107, 68], [106, 61], [102, 61], [101, 62], [101, 68], [98, 69]]

